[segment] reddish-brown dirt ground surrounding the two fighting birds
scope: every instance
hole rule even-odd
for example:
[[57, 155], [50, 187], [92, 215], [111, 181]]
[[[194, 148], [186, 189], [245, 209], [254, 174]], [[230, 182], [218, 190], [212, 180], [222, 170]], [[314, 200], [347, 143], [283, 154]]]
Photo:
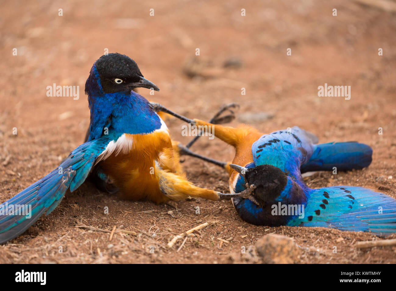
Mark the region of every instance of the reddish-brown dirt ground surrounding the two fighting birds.
[[[242, 121], [270, 132], [296, 125], [323, 143], [367, 143], [374, 151], [367, 169], [316, 173], [307, 178], [308, 186], [364, 186], [396, 198], [395, 30], [394, 12], [342, 0], [3, 2], [0, 202], [49, 173], [82, 143], [89, 122], [84, 84], [105, 48], [133, 58], [161, 88], [154, 96], [144, 89], [139, 93], [185, 116], [209, 119], [221, 105], [237, 102], [240, 119], [232, 126]], [[241, 67], [223, 68], [230, 58]], [[196, 76], [188, 77], [186, 69]], [[53, 83], [80, 86], [80, 99], [47, 97], [46, 86]], [[317, 87], [324, 83], [351, 86], [351, 99], [318, 97]], [[255, 119], [260, 112], [273, 118]], [[167, 124], [173, 139], [188, 142], [190, 137], [181, 136], [181, 122]], [[225, 161], [233, 155], [217, 139], [201, 138], [193, 149]], [[228, 190], [228, 175], [219, 167], [193, 158], [183, 166], [197, 186]], [[166, 248], [173, 236], [206, 221], [217, 223], [194, 232], [179, 252], [183, 240]], [[108, 232], [76, 227], [81, 224], [108, 231], [122, 226], [136, 235], [118, 232], [110, 242]], [[67, 193], [48, 217], [1, 245], [0, 262], [252, 263], [259, 259], [250, 246], [269, 233], [294, 238], [299, 263], [396, 263], [396, 247], [354, 247], [377, 239], [369, 233], [253, 226], [227, 201], [191, 199], [177, 208], [131, 202], [88, 182]], [[220, 245], [217, 238], [229, 243]], [[250, 251], [242, 254], [243, 246]]]

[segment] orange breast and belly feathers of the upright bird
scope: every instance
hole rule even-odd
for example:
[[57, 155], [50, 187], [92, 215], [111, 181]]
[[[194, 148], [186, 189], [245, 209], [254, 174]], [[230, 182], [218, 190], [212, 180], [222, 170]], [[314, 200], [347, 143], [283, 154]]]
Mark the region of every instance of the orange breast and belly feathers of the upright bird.
[[122, 135], [106, 151], [100, 166], [120, 189], [122, 198], [157, 203], [168, 200], [160, 192], [158, 171], [181, 173], [181, 165], [178, 155], [173, 154], [166, 126], [145, 135]]

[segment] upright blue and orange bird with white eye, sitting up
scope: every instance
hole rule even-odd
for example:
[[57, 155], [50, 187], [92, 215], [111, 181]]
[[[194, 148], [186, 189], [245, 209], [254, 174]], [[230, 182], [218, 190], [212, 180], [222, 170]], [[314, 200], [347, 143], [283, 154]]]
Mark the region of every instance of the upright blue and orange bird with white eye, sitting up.
[[173, 150], [177, 143], [172, 144], [157, 112], [192, 120], [148, 102], [132, 91], [136, 87], [159, 91], [126, 55], [110, 53], [93, 64], [85, 86], [91, 113], [88, 141], [51, 173], [0, 205], [0, 243], [23, 233], [42, 214], [48, 215], [65, 192], [76, 190], [90, 173], [99, 177], [103, 187], [111, 181], [125, 199], [162, 203], [189, 196], [229, 197], [187, 181]]

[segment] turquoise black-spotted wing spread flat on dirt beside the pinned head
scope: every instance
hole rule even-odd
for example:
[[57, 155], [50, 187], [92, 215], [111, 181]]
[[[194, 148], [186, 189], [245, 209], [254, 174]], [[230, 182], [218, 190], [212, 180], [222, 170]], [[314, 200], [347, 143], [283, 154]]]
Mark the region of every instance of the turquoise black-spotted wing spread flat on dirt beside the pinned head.
[[396, 232], [396, 200], [362, 187], [314, 189], [308, 197], [304, 217], [287, 225], [390, 234]]

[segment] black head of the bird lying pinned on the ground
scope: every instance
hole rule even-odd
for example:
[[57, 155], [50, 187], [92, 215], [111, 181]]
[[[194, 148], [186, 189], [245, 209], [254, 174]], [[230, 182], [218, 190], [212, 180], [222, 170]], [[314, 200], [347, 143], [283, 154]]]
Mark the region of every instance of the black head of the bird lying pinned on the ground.
[[246, 186], [253, 190], [253, 195], [259, 202], [273, 202], [280, 195], [287, 184], [287, 175], [272, 165], [259, 165], [247, 169], [238, 165], [230, 164], [230, 167], [240, 173], [246, 182]]

